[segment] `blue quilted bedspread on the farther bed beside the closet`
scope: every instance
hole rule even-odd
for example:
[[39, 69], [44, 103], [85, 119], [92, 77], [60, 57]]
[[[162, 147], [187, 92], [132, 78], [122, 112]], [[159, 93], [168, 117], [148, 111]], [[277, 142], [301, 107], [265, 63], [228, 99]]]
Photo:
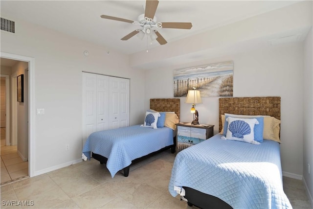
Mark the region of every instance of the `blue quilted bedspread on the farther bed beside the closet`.
[[106, 157], [107, 168], [113, 178], [134, 159], [172, 144], [174, 144], [172, 129], [167, 127], [153, 129], [134, 125], [90, 134], [83, 147], [83, 153], [88, 159], [91, 152]]

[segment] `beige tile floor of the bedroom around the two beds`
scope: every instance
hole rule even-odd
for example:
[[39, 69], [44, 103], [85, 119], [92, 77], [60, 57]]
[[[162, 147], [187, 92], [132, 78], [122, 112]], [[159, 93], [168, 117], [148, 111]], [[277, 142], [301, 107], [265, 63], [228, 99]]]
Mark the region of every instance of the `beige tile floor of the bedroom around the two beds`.
[[[32, 209], [188, 209], [178, 196], [168, 192], [174, 159], [175, 155], [165, 151], [131, 166], [129, 177], [118, 172], [113, 179], [104, 164], [92, 159], [3, 185], [1, 201], [28, 200], [28, 205], [34, 205], [11, 208]], [[302, 181], [283, 180], [293, 209], [311, 209]]]

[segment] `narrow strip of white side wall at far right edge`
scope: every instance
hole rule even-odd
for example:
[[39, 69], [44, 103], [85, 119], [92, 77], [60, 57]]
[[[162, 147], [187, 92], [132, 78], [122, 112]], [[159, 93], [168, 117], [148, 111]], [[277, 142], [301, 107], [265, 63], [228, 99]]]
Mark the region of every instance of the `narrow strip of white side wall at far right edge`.
[[[313, 34], [312, 28], [304, 42], [303, 71], [303, 179], [313, 205]], [[308, 171], [310, 164], [310, 174]]]

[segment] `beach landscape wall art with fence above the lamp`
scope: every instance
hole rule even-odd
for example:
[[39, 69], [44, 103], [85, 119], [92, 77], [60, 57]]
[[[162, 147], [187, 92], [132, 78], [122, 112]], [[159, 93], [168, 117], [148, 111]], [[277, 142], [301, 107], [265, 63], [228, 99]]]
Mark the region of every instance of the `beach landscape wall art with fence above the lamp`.
[[193, 88], [201, 97], [233, 96], [233, 74], [233, 61], [174, 70], [174, 97], [187, 96]]

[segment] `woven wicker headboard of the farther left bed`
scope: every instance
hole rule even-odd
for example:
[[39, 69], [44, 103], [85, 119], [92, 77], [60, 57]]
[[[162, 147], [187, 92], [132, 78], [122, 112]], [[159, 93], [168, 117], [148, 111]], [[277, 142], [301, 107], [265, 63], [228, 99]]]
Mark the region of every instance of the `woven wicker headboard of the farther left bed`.
[[180, 99], [150, 99], [150, 109], [158, 112], [175, 112], [179, 118]]

